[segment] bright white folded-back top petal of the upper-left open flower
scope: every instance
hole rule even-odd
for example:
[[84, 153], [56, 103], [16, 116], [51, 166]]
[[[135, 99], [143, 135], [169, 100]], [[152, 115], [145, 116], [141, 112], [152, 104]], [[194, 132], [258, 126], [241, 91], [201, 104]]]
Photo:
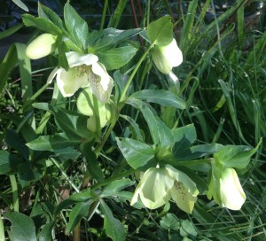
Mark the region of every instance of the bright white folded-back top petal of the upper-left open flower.
[[66, 58], [69, 67], [82, 65], [91, 66], [92, 64], [98, 62], [98, 57], [94, 54], [81, 54], [75, 51], [67, 52]]

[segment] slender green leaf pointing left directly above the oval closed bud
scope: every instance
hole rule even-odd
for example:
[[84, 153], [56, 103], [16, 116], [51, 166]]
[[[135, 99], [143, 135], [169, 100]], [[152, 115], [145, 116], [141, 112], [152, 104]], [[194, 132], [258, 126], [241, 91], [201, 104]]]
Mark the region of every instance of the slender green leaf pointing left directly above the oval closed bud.
[[35, 27], [42, 30], [43, 32], [50, 33], [51, 35], [61, 35], [62, 30], [57, 27], [50, 20], [44, 19], [43, 17], [35, 18], [30, 14], [23, 14], [22, 20], [27, 27]]

